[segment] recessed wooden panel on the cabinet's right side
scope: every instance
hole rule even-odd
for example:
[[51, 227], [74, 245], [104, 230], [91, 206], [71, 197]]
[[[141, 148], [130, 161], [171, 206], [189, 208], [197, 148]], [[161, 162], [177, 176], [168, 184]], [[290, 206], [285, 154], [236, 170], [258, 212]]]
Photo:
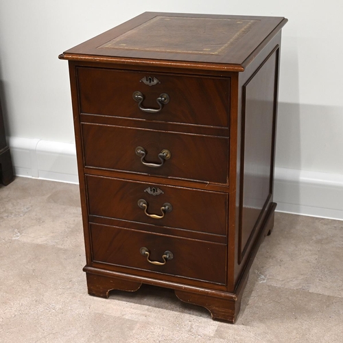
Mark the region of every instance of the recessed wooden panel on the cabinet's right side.
[[239, 263], [272, 200], [278, 61], [276, 47], [243, 86]]

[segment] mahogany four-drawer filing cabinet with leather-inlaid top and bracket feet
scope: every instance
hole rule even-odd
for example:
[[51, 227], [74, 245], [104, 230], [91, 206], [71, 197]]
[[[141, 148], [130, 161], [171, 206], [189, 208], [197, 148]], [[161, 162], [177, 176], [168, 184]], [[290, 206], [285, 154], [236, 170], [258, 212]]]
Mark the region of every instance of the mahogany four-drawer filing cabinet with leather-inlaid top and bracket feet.
[[235, 322], [274, 224], [280, 17], [145, 12], [69, 49], [88, 293]]

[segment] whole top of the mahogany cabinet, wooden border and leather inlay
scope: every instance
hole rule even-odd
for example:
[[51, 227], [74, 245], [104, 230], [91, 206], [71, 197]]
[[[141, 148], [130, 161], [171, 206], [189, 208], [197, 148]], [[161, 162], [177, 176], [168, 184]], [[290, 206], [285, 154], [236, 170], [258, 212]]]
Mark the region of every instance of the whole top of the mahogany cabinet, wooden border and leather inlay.
[[286, 22], [282, 17], [145, 12], [69, 49], [60, 58], [242, 65]]

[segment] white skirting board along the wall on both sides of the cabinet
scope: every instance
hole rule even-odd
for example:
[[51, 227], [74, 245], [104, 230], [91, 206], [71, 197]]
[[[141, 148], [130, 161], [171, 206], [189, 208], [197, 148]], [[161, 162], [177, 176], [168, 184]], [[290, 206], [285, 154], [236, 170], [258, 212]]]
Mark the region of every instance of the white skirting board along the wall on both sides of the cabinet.
[[[15, 174], [78, 183], [75, 144], [10, 137]], [[276, 211], [343, 220], [343, 175], [276, 167]]]

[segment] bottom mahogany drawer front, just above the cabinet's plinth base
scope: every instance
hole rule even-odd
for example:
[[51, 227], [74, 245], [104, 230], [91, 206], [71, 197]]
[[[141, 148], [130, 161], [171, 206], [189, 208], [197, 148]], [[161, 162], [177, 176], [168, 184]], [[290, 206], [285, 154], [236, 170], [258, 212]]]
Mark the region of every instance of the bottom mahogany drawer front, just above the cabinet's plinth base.
[[[91, 224], [90, 230], [93, 262], [226, 285], [224, 244], [99, 224]], [[172, 253], [172, 259], [166, 260], [165, 265], [154, 265], [141, 255], [141, 248], [147, 248], [150, 261], [163, 263], [166, 251]]]

